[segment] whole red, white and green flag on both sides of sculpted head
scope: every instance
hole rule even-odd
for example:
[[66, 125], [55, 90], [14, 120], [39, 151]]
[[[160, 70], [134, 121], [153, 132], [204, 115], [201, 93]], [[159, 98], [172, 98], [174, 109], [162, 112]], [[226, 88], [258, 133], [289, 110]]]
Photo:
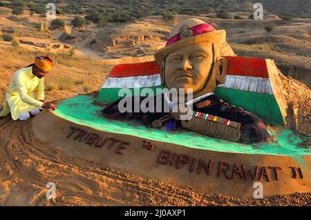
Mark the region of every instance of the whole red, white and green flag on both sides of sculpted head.
[[[251, 57], [225, 57], [228, 61], [225, 83], [215, 90], [218, 99], [252, 112], [263, 121], [283, 124], [283, 116], [277, 103], [269, 70], [274, 71], [275, 64], [266, 59]], [[268, 65], [267, 65], [268, 61]], [[272, 68], [268, 68], [272, 66]], [[273, 67], [275, 66], [275, 68]], [[160, 79], [160, 66], [154, 61], [144, 63], [120, 64], [111, 70], [104, 81], [97, 102], [108, 104], [120, 99], [119, 91], [129, 88], [131, 94], [140, 94], [143, 88], [151, 88], [159, 94], [163, 88]], [[138, 93], [137, 93], [138, 92]]]

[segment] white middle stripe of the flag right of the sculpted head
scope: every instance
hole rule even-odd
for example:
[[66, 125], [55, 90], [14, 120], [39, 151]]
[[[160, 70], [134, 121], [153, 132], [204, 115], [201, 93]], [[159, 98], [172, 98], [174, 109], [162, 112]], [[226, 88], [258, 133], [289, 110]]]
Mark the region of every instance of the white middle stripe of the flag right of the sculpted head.
[[218, 87], [273, 94], [269, 78], [227, 75], [225, 83]]

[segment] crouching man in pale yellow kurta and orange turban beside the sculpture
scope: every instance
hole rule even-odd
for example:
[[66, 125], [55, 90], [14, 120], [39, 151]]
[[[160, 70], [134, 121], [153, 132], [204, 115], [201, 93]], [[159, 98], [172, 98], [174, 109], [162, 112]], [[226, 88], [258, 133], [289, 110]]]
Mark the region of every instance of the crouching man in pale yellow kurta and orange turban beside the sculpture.
[[53, 103], [44, 101], [44, 76], [50, 72], [53, 61], [47, 56], [35, 58], [35, 63], [15, 72], [6, 91], [6, 101], [0, 117], [11, 112], [12, 119], [22, 121], [30, 115], [39, 114], [39, 109], [55, 110]]

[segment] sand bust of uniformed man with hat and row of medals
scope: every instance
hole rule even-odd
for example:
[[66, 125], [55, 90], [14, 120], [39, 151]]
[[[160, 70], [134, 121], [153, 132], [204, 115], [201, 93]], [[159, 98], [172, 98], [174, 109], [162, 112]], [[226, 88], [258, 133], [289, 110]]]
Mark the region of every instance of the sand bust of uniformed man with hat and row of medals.
[[[176, 101], [173, 101], [173, 92], [162, 92], [154, 97], [154, 100], [146, 98], [137, 99], [135, 102], [133, 97], [132, 100], [126, 101], [131, 103], [124, 103], [132, 108], [122, 112], [120, 105], [124, 99], [119, 99], [104, 108], [104, 116], [110, 119], [138, 118], [147, 126], [152, 125], [155, 128], [167, 121], [167, 128], [171, 130], [186, 128], [229, 141], [270, 141], [270, 133], [261, 119], [242, 108], [217, 99], [214, 94], [216, 86], [226, 81], [228, 63], [220, 56], [220, 52], [223, 54], [226, 52], [223, 50], [227, 48], [229, 46], [225, 42], [224, 30], [215, 30], [213, 26], [198, 19], [180, 22], [171, 30], [167, 46], [155, 54], [156, 61], [162, 66], [162, 85], [168, 90], [176, 89], [173, 90], [176, 91]], [[250, 89], [261, 86], [256, 78], [245, 78], [251, 85]], [[228, 81], [234, 85], [241, 83], [241, 79], [231, 77], [227, 77]], [[188, 97], [189, 91], [191, 99]], [[180, 92], [185, 96], [180, 97]], [[186, 106], [182, 106], [182, 101]], [[135, 112], [138, 105], [141, 109]], [[149, 105], [147, 111], [142, 105]], [[164, 108], [158, 108], [159, 105]], [[186, 116], [181, 114], [183, 107], [189, 107], [189, 111], [185, 112], [189, 114], [187, 120], [180, 119]]]

